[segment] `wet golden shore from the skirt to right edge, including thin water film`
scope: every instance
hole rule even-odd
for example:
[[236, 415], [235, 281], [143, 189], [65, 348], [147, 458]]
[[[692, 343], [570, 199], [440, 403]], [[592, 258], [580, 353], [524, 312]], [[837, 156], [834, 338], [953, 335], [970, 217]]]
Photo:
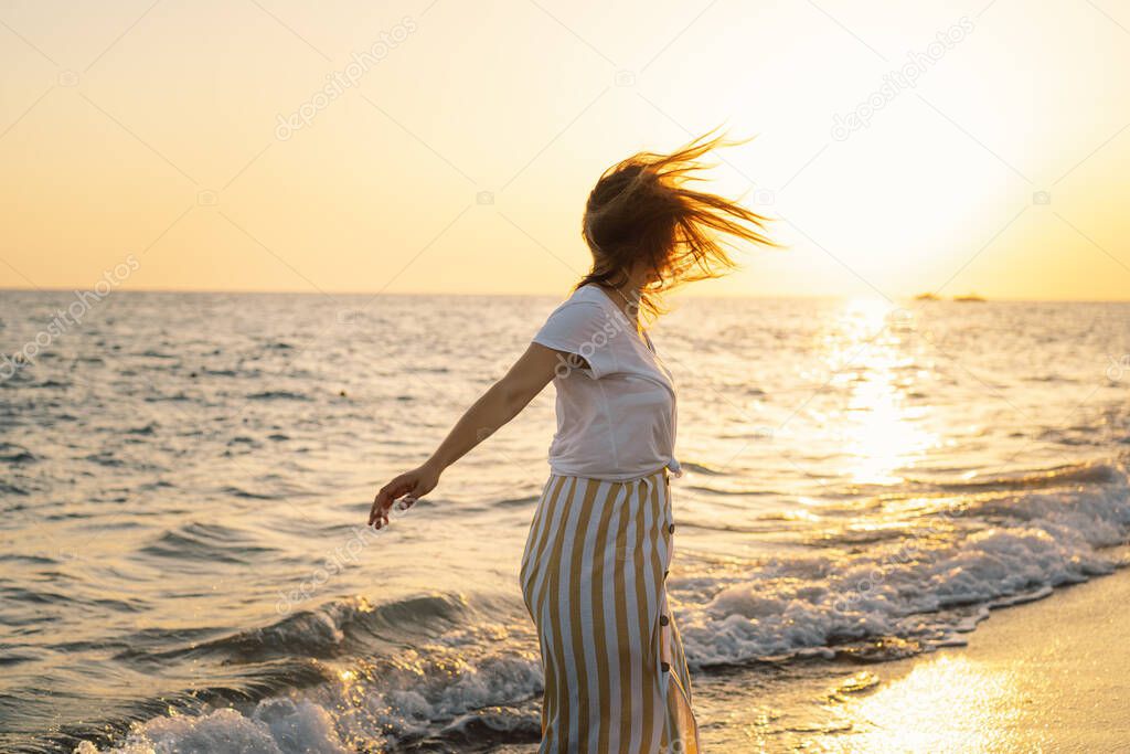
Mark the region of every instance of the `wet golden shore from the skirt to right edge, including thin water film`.
[[[996, 610], [967, 647], [827, 677], [770, 679], [740, 716], [704, 718], [706, 751], [1127, 752], [1130, 571]], [[703, 688], [706, 703], [711, 686]], [[720, 710], [719, 710], [720, 711]], [[713, 714], [714, 709], [710, 709]], [[782, 729], [786, 733], [782, 733]]]

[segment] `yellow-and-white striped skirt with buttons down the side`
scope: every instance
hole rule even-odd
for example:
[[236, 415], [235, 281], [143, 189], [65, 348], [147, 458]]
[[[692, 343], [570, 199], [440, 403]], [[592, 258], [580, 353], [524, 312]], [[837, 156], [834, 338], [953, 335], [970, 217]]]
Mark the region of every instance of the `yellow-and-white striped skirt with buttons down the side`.
[[673, 532], [666, 469], [549, 477], [521, 570], [546, 677], [540, 752], [699, 751], [663, 584]]

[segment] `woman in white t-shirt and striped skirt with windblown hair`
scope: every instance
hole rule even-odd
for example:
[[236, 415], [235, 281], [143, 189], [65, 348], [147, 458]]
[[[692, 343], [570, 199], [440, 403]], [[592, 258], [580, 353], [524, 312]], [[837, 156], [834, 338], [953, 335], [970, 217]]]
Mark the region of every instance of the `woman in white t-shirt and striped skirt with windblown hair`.
[[522, 557], [522, 595], [545, 670], [541, 752], [697, 752], [690, 683], [667, 605], [675, 523], [669, 475], [676, 402], [670, 371], [640, 322], [657, 295], [733, 267], [719, 233], [770, 244], [764, 218], [687, 183], [721, 146], [609, 168], [589, 196], [592, 270], [529, 348], [471, 406], [433, 456], [376, 495], [370, 525], [435, 488], [443, 470], [557, 390], [550, 476]]

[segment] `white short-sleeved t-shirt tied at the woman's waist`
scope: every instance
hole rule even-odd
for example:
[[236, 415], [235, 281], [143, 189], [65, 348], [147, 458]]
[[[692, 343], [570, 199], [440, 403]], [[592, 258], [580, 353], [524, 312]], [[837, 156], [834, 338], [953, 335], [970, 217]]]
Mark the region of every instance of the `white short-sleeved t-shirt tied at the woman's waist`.
[[588, 362], [562, 356], [554, 376], [554, 474], [614, 482], [663, 467], [679, 474], [675, 382], [645, 338], [596, 285], [577, 288], [533, 336]]

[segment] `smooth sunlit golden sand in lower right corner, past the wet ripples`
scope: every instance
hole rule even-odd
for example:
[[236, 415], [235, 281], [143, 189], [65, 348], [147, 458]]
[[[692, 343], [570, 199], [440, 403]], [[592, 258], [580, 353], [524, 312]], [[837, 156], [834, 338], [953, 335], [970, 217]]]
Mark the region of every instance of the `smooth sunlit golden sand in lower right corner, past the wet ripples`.
[[1130, 572], [999, 610], [966, 648], [895, 662], [847, 751], [1130, 751]]

